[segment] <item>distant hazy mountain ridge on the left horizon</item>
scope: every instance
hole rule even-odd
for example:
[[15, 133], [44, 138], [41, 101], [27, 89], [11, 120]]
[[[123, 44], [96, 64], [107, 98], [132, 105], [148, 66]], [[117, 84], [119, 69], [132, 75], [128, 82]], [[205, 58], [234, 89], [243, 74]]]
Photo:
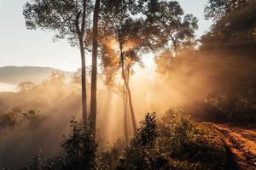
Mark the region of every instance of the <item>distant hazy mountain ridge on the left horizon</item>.
[[[16, 84], [20, 82], [42, 82], [53, 71], [61, 71], [51, 67], [40, 66], [3, 66], [0, 67], [0, 82]], [[73, 75], [73, 71], [61, 71], [67, 79]]]

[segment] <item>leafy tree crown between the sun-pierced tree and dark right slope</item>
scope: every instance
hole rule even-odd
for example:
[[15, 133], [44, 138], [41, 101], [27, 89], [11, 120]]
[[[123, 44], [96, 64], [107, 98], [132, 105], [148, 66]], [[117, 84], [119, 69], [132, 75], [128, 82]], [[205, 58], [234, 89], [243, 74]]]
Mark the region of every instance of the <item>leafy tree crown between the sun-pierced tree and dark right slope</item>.
[[170, 49], [171, 46], [173, 53], [178, 54], [181, 48], [194, 41], [198, 20], [192, 14], [184, 15], [177, 1], [156, 3], [154, 11], [146, 14], [162, 48]]

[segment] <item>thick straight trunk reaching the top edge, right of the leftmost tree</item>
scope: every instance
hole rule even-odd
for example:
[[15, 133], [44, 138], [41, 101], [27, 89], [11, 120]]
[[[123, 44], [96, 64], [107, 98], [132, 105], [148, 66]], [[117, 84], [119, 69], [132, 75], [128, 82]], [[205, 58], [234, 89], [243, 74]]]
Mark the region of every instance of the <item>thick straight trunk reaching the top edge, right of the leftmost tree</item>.
[[93, 14], [93, 39], [92, 39], [92, 64], [91, 64], [91, 89], [90, 89], [90, 128], [96, 137], [96, 85], [97, 85], [97, 39], [100, 0], [96, 0]]

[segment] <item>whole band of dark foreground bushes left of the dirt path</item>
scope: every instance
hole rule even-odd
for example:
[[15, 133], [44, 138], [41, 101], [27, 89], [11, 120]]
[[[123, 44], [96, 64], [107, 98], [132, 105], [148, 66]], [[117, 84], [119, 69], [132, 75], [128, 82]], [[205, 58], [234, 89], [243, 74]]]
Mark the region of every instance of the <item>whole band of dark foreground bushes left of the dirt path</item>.
[[63, 156], [44, 161], [38, 154], [32, 164], [20, 169], [190, 170], [233, 166], [218, 133], [179, 111], [166, 111], [160, 119], [147, 114], [131, 144], [123, 145], [123, 149], [113, 147], [96, 153], [89, 127], [72, 120], [71, 129], [61, 143]]

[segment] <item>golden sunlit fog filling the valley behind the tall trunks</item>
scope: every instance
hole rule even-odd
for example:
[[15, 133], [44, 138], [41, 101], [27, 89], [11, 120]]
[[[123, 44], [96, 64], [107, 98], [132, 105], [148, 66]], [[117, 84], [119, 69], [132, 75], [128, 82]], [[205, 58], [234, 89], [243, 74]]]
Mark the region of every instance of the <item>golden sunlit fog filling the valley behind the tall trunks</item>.
[[[148, 74], [150, 72], [150, 74]], [[153, 73], [153, 74], [151, 74]], [[154, 70], [137, 69], [131, 77], [131, 93], [137, 123], [147, 112], [160, 112], [162, 108], [153, 105]], [[88, 86], [90, 87], [90, 86]], [[15, 87], [15, 90], [19, 90]], [[60, 83], [45, 80], [17, 92], [0, 94], [0, 111], [7, 113], [13, 109], [35, 110], [42, 119], [36, 122], [23, 122], [14, 129], [0, 131], [1, 164], [11, 167], [31, 161], [40, 150], [43, 157], [61, 154], [61, 139], [69, 132], [69, 122], [74, 116], [81, 120], [81, 94], [79, 83]], [[90, 89], [88, 94], [90, 94]], [[97, 136], [100, 144], [113, 144], [123, 138], [124, 108], [122, 97], [99, 80], [97, 104]], [[90, 99], [90, 95], [87, 96]], [[88, 102], [89, 105], [89, 102]], [[169, 104], [166, 105], [166, 109]], [[131, 124], [131, 122], [129, 122]]]

